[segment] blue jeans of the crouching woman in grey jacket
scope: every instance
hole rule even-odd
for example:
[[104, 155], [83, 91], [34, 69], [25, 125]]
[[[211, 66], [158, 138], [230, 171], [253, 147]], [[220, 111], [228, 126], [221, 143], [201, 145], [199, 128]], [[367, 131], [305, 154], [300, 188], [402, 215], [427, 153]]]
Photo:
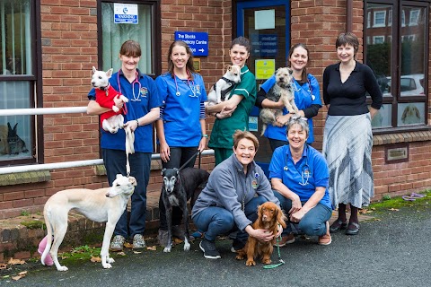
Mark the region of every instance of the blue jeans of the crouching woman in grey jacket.
[[[258, 206], [266, 203], [267, 198], [263, 196], [254, 197], [245, 204], [245, 216], [255, 222], [258, 219]], [[214, 241], [218, 235], [237, 230], [233, 214], [223, 207], [208, 206], [206, 209], [192, 217], [193, 222], [199, 230], [205, 232], [205, 239]], [[239, 230], [236, 239], [245, 243], [249, 234], [245, 230]]]

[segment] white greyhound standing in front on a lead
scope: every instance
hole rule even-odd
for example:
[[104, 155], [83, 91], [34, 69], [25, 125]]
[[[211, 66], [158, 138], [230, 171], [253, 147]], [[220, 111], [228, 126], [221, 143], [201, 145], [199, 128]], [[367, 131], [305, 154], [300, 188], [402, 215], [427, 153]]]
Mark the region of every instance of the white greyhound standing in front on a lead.
[[[136, 179], [124, 177], [120, 174], [112, 183], [112, 187], [96, 190], [75, 188], [58, 191], [49, 197], [43, 209], [43, 216], [47, 224], [48, 240], [40, 261], [45, 265], [45, 257], [48, 252], [54, 261], [58, 271], [67, 271], [66, 266], [58, 263], [58, 248], [65, 238], [67, 230], [67, 214], [71, 209], [83, 213], [93, 222], [106, 222], [105, 234], [101, 246], [101, 265], [103, 268], [111, 268], [110, 263], [110, 238], [114, 232], [119, 217], [124, 213], [128, 199], [132, 196], [136, 187]], [[54, 243], [52, 244], [52, 236]], [[49, 251], [50, 250], [50, 251]]]

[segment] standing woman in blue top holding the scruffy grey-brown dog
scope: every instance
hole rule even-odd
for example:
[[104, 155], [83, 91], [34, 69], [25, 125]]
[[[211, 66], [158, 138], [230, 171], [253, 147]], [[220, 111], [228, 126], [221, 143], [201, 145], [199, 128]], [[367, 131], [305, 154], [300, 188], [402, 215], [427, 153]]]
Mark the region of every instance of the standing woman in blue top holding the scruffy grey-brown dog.
[[[302, 44], [298, 43], [290, 49], [287, 65], [294, 71], [294, 90], [295, 104], [299, 109], [299, 116], [308, 118], [310, 126], [310, 136], [307, 140], [308, 144], [314, 141], [312, 130], [312, 117], [316, 116], [321, 109], [321, 91], [319, 83], [312, 74], [307, 74], [306, 65], [309, 60], [309, 50]], [[292, 114], [289, 114], [284, 107], [283, 102], [268, 100], [265, 95], [276, 83], [276, 76], [273, 75], [265, 83], [260, 86], [256, 106], [269, 109], [283, 108], [283, 116], [277, 117], [276, 126], [268, 125], [265, 131], [265, 136], [269, 140], [272, 151], [277, 147], [287, 144], [286, 142], [286, 124]]]

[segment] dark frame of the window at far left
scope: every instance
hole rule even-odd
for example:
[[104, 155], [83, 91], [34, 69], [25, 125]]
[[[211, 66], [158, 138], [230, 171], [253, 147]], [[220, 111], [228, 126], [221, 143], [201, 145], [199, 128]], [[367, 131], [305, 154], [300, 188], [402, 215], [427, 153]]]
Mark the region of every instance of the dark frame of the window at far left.
[[[0, 74], [0, 82], [29, 82], [30, 107], [43, 108], [40, 0], [30, 0], [29, 3], [31, 26], [31, 74]], [[0, 167], [44, 163], [43, 116], [38, 115], [29, 117], [31, 122], [31, 144], [28, 144], [27, 148], [31, 152], [31, 158], [0, 161]]]

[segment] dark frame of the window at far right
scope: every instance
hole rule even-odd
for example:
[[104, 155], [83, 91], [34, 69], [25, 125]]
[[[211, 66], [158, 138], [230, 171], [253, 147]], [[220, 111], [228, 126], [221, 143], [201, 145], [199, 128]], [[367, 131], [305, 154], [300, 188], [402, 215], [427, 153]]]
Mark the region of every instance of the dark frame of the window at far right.
[[[368, 12], [366, 11], [368, 4], [391, 4], [392, 6], [392, 22], [391, 25], [388, 23], [388, 27], [391, 26], [391, 35], [388, 35], [391, 39], [398, 39], [397, 41], [391, 41], [391, 79], [397, 79], [396, 83], [391, 81], [391, 95], [384, 96], [383, 95], [383, 105], [391, 104], [391, 127], [377, 127], [373, 128], [374, 135], [379, 134], [387, 134], [387, 133], [394, 133], [394, 132], [404, 132], [404, 131], [419, 131], [419, 130], [429, 130], [430, 126], [427, 125], [428, 121], [428, 102], [429, 102], [429, 95], [428, 95], [428, 78], [429, 78], [429, 64], [428, 64], [428, 49], [429, 46], [429, 4], [431, 1], [429, 0], [418, 0], [418, 1], [406, 1], [406, 0], [365, 0], [364, 2], [364, 15], [365, 15], [365, 23], [368, 21], [366, 19]], [[405, 17], [404, 22], [402, 22], [401, 17], [399, 17], [400, 13], [404, 13], [404, 9], [402, 9], [404, 6], [408, 7], [418, 7], [419, 11], [420, 9], [425, 8], [425, 20], [424, 22], [424, 95], [423, 96], [401, 96], [400, 95], [400, 69], [397, 67], [400, 67], [401, 65], [401, 29], [404, 29], [406, 27], [405, 25]], [[420, 24], [420, 23], [418, 23]], [[365, 25], [364, 25], [365, 26]], [[367, 39], [366, 37], [369, 37], [370, 32], [368, 31], [371, 28], [364, 27], [364, 39]], [[366, 63], [366, 44], [364, 45], [364, 63]], [[371, 104], [371, 99], [367, 100], [368, 103]], [[425, 104], [424, 109], [424, 124], [419, 124], [416, 126], [397, 126], [398, 123], [398, 106], [402, 103], [408, 103], [408, 102], [423, 102]]]

